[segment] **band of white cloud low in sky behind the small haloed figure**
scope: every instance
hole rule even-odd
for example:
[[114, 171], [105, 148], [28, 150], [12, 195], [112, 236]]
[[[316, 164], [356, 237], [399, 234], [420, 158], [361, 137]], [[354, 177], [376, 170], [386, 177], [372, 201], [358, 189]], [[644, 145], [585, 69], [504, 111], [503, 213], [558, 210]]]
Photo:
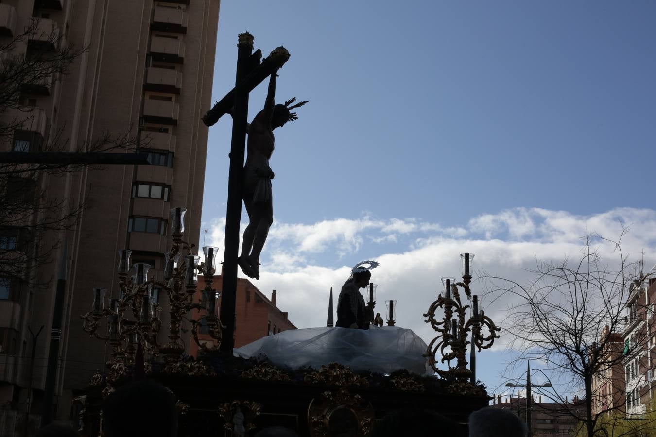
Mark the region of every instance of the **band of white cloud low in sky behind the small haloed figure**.
[[[211, 223], [208, 238], [223, 246], [225, 220]], [[441, 276], [460, 275], [459, 254], [471, 252], [480, 305], [503, 327], [513, 298], [493, 301], [483, 295], [485, 284], [476, 280], [481, 271], [526, 284], [537, 260], [562, 261], [577, 257], [583, 237], [598, 233], [617, 238], [623, 227], [624, 255], [640, 259], [644, 250], [646, 269], [656, 261], [656, 210], [616, 208], [600, 214], [579, 216], [541, 208], [513, 208], [483, 214], [465, 227], [442, 227], [418, 219], [337, 218], [314, 224], [274, 223], [262, 254], [261, 278], [255, 285], [269, 294], [277, 290], [277, 305], [289, 313], [298, 328], [324, 326], [330, 288], [337, 295], [362, 259], [375, 259], [380, 267], [372, 280], [379, 284], [377, 312], [385, 313], [384, 301], [398, 300], [398, 326], [411, 328], [428, 343], [436, 334], [424, 322], [424, 312], [441, 292]], [[243, 226], [242, 226], [243, 230]], [[381, 246], [384, 244], [384, 246]], [[610, 261], [619, 256], [609, 244], [597, 241], [600, 253]], [[501, 334], [502, 335], [502, 334]], [[499, 350], [506, 344], [497, 342]], [[483, 352], [485, 353], [485, 352]]]

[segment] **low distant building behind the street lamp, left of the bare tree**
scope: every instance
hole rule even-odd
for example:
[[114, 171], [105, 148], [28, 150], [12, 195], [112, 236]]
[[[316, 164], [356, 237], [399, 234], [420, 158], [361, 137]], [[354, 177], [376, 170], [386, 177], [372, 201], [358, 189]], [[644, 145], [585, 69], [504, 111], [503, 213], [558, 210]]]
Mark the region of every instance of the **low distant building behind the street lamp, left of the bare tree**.
[[[583, 416], [585, 402], [573, 398], [571, 403], [554, 404], [541, 402], [542, 396], [533, 396], [531, 402], [531, 436], [532, 437], [572, 437], [576, 434], [579, 423], [566, 410], [575, 411]], [[505, 402], [502, 402], [505, 401]], [[536, 402], [537, 401], [537, 402]], [[510, 409], [522, 421], [526, 420], [526, 398], [497, 396], [494, 408]]]

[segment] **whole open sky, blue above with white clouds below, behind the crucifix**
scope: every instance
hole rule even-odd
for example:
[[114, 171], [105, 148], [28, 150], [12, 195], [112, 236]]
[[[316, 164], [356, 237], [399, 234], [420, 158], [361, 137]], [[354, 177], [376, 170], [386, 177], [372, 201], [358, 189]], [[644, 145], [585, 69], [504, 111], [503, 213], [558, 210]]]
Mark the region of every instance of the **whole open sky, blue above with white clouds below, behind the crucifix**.
[[[298, 326], [321, 326], [317, 290], [386, 259], [380, 290], [428, 340], [419, 311], [461, 252], [521, 276], [622, 222], [653, 265], [655, 17], [651, 1], [222, 1], [213, 98], [234, 86], [248, 30], [265, 56], [291, 53], [277, 102], [311, 100], [275, 132], [258, 287], [277, 288]], [[265, 93], [251, 93], [249, 119]], [[210, 128], [203, 202], [206, 242], [221, 250], [230, 130]], [[495, 386], [502, 352], [490, 355]]]

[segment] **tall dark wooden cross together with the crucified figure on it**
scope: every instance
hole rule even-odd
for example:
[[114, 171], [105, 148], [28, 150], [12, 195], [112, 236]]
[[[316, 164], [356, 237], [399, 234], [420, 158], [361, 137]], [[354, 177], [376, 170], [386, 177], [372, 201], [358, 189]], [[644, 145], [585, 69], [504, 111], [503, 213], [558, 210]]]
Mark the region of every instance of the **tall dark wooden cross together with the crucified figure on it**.
[[[284, 47], [276, 48], [268, 58], [261, 60], [262, 52], [253, 53], [253, 35], [239, 33], [237, 43], [236, 86], [203, 116], [203, 123], [212, 126], [218, 119], [232, 115], [232, 142], [230, 144], [230, 170], [228, 173], [228, 205], [226, 211], [226, 242], [223, 257], [220, 318], [225, 324], [220, 350], [232, 355], [234, 347], [235, 303], [237, 292], [237, 266], [250, 278], [259, 279], [259, 258], [264, 241], [273, 222], [271, 180], [274, 172], [268, 161], [274, 150], [273, 130], [287, 121], [297, 119], [290, 109], [307, 102], [287, 100], [284, 105], [274, 104], [276, 77], [280, 67], [289, 60]], [[264, 109], [258, 112], [251, 124], [247, 123], [249, 92], [270, 77]], [[248, 158], [244, 166], [246, 134]], [[239, 255], [239, 223], [241, 200], [249, 215], [244, 231], [241, 256]]]

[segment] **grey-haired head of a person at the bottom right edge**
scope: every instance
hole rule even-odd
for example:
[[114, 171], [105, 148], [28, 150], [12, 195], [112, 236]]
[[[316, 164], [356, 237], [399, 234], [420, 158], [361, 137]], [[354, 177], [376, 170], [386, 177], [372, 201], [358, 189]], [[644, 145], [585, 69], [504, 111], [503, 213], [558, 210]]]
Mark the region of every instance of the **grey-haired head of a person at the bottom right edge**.
[[483, 408], [469, 415], [469, 437], [526, 437], [526, 425], [508, 409]]

